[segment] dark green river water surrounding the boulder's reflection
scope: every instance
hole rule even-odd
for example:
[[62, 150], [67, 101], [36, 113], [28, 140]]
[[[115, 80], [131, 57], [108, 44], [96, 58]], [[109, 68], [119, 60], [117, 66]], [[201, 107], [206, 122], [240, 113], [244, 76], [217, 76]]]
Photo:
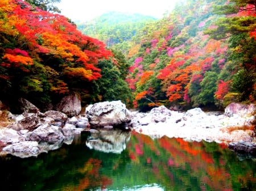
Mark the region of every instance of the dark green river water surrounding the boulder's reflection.
[[224, 145], [131, 133], [115, 154], [88, 148], [87, 139], [38, 158], [0, 159], [0, 190], [256, 190], [255, 160]]

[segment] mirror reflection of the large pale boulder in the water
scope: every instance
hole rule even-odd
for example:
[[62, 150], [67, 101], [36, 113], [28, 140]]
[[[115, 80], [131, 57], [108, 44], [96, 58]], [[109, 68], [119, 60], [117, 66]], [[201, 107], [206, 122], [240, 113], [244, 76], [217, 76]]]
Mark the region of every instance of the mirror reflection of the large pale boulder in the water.
[[126, 148], [131, 132], [120, 129], [91, 129], [86, 146], [102, 152], [119, 154]]

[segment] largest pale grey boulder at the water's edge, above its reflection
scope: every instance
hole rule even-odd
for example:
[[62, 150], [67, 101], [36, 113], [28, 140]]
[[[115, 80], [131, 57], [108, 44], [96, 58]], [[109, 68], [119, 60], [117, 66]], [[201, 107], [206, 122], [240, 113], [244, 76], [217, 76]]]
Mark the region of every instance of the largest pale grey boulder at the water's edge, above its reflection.
[[130, 111], [120, 100], [89, 105], [85, 111], [89, 124], [96, 127], [118, 126], [131, 120]]

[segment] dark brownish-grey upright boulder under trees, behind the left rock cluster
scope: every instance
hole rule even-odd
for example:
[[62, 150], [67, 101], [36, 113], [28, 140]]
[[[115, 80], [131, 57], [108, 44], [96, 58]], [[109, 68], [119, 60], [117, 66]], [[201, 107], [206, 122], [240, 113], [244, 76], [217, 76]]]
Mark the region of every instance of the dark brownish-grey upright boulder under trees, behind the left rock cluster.
[[68, 116], [77, 116], [81, 112], [81, 98], [77, 94], [72, 94], [60, 101], [57, 104], [56, 110], [59, 112], [63, 112]]

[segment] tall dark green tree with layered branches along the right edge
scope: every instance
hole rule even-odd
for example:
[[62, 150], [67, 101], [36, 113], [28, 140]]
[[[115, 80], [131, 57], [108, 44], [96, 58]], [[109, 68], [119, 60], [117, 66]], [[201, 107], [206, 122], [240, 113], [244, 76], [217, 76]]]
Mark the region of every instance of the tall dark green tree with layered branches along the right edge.
[[255, 95], [255, 29], [256, 1], [233, 0], [228, 5], [216, 7], [216, 12], [227, 15], [216, 22], [216, 28], [208, 29], [214, 39], [229, 38], [229, 61], [236, 63], [232, 90], [240, 94], [237, 101], [256, 99]]

